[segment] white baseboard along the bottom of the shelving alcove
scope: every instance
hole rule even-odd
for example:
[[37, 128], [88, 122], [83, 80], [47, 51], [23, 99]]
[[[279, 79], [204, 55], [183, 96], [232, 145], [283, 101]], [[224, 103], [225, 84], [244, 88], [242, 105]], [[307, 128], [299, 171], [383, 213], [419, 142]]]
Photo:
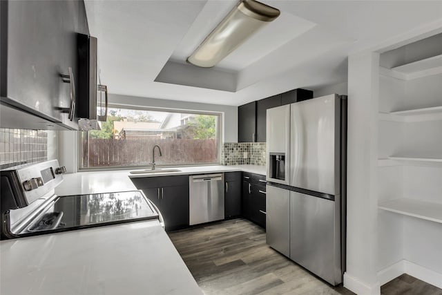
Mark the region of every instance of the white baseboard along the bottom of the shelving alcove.
[[414, 278], [419, 278], [419, 280], [423, 280], [426, 283], [442, 288], [441, 273], [434, 272], [432, 269], [427, 269], [426, 267], [417, 265], [416, 263], [412, 263], [405, 259], [385, 267], [378, 272], [378, 280], [381, 285], [384, 285], [385, 283], [390, 282], [390, 280], [401, 276], [401, 274], [410, 274], [410, 276], [414, 276]]

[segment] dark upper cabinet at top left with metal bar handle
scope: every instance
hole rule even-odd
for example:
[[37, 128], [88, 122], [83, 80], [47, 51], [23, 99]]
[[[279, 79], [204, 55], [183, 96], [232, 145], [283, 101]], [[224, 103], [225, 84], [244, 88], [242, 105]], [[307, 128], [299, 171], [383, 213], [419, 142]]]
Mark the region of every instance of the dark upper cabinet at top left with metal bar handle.
[[[1, 101], [77, 129], [68, 119], [70, 84], [77, 78], [77, 32], [88, 34], [83, 1], [0, 1]], [[76, 89], [75, 89], [76, 90]], [[7, 122], [6, 122], [7, 123]], [[32, 126], [30, 126], [32, 127]]]

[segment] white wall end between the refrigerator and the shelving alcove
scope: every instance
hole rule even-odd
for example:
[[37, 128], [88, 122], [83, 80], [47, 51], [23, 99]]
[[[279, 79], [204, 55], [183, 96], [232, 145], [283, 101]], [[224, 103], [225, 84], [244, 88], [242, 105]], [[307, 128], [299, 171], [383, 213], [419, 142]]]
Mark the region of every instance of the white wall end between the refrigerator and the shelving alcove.
[[378, 270], [377, 53], [348, 59], [347, 271], [344, 286], [380, 294]]

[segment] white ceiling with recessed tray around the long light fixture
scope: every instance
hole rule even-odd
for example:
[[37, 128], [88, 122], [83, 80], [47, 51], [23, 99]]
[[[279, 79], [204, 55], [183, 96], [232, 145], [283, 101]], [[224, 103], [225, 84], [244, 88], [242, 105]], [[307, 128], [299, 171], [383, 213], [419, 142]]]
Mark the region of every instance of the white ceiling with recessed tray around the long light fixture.
[[[212, 69], [235, 79], [236, 92], [229, 92], [180, 85], [177, 72], [176, 84], [155, 78], [169, 59], [184, 63], [236, 0], [86, 1], [102, 83], [115, 94], [238, 106], [344, 82], [348, 55], [442, 28], [442, 1], [262, 2], [280, 9], [280, 17]], [[186, 80], [192, 73], [180, 71]], [[213, 87], [217, 82], [211, 88], [222, 88]]]

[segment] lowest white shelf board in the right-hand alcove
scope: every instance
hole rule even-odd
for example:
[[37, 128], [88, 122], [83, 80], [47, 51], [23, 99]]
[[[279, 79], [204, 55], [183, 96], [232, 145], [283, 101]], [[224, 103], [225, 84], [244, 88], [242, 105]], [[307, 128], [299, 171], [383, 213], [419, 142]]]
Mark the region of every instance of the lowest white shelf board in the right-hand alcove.
[[442, 223], [442, 204], [401, 198], [378, 204], [379, 209]]

